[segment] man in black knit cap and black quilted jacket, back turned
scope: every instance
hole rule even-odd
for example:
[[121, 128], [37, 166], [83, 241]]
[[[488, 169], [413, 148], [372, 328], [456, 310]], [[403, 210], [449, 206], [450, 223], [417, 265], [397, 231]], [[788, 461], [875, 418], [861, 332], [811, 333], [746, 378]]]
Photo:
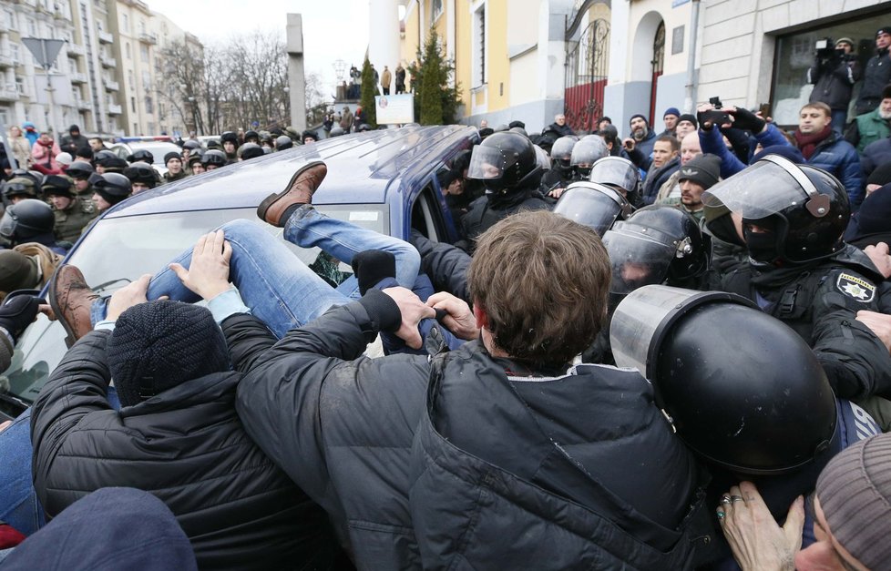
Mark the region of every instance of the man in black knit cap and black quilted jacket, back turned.
[[[177, 516], [200, 568], [316, 568], [337, 551], [327, 518], [251, 442], [235, 412], [241, 375], [210, 311], [146, 302], [143, 276], [67, 353], [31, 415], [34, 484], [56, 516], [109, 486], [151, 492]], [[73, 266], [54, 292], [86, 287]], [[111, 331], [108, 331], [111, 330]], [[108, 403], [114, 378], [122, 408]]]

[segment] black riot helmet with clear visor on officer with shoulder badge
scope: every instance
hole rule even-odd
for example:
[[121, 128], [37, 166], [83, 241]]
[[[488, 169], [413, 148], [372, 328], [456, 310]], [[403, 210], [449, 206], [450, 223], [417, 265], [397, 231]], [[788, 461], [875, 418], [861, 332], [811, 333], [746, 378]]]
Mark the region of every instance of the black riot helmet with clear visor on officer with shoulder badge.
[[728, 214], [741, 215], [749, 255], [763, 264], [834, 255], [845, 247], [842, 234], [851, 218], [847, 192], [837, 178], [778, 155], [768, 155], [706, 190], [702, 204], [706, 224], [719, 238], [728, 233], [719, 228]]

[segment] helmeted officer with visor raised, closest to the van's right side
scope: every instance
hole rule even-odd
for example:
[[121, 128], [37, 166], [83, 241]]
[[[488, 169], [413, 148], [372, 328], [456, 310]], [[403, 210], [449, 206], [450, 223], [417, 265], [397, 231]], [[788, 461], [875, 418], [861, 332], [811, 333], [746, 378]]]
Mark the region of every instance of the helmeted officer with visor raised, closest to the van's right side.
[[496, 133], [474, 148], [467, 178], [483, 181], [485, 196], [471, 203], [461, 219], [467, 240], [520, 210], [547, 210], [538, 192], [541, 168], [532, 141], [518, 133]]

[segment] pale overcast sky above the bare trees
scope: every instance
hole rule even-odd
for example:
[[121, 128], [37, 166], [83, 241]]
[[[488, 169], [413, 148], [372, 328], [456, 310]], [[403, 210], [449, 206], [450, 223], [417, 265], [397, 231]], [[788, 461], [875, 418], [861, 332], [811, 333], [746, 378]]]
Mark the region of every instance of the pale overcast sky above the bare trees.
[[362, 65], [368, 46], [368, 0], [145, 0], [148, 7], [198, 36], [217, 44], [233, 34], [260, 29], [284, 39], [286, 15], [303, 18], [303, 65], [323, 77], [333, 94], [337, 59]]

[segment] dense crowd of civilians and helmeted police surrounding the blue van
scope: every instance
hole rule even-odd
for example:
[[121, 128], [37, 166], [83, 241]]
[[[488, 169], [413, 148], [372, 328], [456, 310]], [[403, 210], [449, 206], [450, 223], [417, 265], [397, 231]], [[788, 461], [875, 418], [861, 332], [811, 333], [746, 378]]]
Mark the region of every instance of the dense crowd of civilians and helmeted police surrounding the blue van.
[[[791, 133], [713, 103], [625, 138], [481, 125], [436, 174], [454, 244], [325, 216], [306, 162], [257, 217], [353, 270], [334, 278], [235, 220], [101, 297], [20, 209], [77, 236], [85, 195], [148, 169], [14, 172], [0, 364], [38, 311], [69, 350], [0, 427], [0, 568], [136, 558], [129, 505], [163, 538], [143, 568], [885, 568], [891, 158], [841, 134], [887, 128], [891, 86], [870, 93]], [[217, 152], [259, 156], [256, 135]]]

